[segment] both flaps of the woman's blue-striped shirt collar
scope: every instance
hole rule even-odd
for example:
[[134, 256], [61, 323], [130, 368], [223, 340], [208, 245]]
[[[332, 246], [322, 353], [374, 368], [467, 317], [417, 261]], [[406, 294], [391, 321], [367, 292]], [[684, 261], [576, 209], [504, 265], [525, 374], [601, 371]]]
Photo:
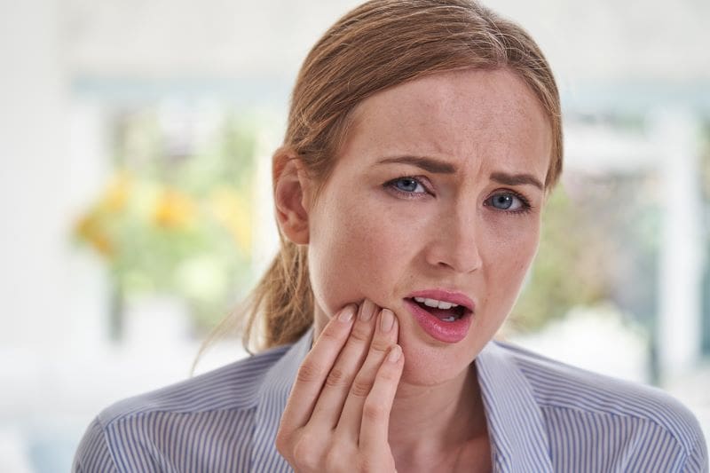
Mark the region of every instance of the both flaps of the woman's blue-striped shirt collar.
[[[311, 350], [309, 330], [266, 373], [255, 414], [253, 471], [290, 471], [274, 448], [281, 413], [298, 367]], [[500, 343], [485, 345], [476, 359], [478, 382], [493, 449], [493, 469], [500, 473], [552, 472], [548, 436], [533, 389], [515, 359]]]

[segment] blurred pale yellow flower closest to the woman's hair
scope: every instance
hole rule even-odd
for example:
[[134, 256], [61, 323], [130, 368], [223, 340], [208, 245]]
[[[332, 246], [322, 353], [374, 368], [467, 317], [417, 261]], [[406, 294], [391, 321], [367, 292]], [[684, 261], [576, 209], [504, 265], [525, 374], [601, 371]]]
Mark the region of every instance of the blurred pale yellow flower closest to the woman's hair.
[[245, 254], [251, 250], [251, 206], [240, 194], [229, 187], [214, 190], [209, 209], [221, 225], [232, 234], [237, 246]]

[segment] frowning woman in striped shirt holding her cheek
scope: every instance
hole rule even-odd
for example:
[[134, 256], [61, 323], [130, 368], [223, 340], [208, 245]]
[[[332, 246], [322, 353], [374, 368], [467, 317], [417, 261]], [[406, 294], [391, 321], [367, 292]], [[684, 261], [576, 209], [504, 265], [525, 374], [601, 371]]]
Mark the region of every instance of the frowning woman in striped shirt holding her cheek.
[[273, 156], [282, 245], [256, 356], [123, 401], [86, 471], [703, 471], [658, 390], [493, 335], [562, 169], [532, 38], [467, 0], [375, 0], [298, 76]]

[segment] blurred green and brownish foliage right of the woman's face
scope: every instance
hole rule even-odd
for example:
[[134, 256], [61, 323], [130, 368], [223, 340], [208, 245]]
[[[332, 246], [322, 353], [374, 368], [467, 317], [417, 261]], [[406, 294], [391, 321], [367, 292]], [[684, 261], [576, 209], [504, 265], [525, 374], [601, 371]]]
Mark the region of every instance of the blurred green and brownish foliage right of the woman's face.
[[610, 303], [651, 328], [660, 228], [655, 178], [638, 172], [565, 180], [570, 192], [558, 186], [544, 210], [513, 328], [535, 330], [573, 307]]

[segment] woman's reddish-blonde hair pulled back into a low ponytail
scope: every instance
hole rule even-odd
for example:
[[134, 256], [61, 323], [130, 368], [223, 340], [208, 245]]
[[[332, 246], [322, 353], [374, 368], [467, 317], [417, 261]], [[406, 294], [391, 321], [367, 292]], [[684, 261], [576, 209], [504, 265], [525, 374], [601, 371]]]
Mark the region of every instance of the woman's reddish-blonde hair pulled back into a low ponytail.
[[[562, 171], [555, 78], [523, 28], [472, 0], [372, 0], [343, 16], [304, 60], [283, 146], [322, 184], [360, 102], [423, 75], [470, 67], [507, 67], [540, 99], [553, 135], [549, 190]], [[307, 247], [280, 236], [280, 251], [253, 289], [244, 315], [231, 316], [244, 317], [245, 346], [256, 350], [293, 343], [312, 325]], [[257, 330], [263, 338], [255, 346]]]

